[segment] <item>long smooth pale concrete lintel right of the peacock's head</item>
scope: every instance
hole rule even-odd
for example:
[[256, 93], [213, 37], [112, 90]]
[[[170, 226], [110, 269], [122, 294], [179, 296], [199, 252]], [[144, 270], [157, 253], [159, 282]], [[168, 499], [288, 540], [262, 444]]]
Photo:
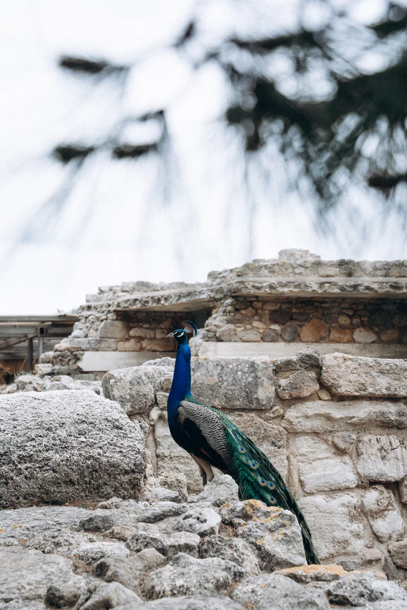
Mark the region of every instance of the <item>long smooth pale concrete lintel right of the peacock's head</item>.
[[349, 356], [368, 356], [370, 358], [407, 358], [407, 345], [391, 343], [223, 343], [204, 342], [199, 351], [203, 357], [253, 357], [263, 356], [275, 360], [295, 356], [298, 351], [315, 347], [322, 354], [340, 352]]

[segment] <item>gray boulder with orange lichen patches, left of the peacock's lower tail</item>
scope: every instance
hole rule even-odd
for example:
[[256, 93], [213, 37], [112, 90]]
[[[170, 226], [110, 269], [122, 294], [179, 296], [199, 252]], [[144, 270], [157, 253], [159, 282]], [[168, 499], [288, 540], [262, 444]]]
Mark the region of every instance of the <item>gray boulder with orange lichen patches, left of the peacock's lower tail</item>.
[[236, 536], [253, 549], [262, 570], [306, 563], [300, 526], [291, 512], [245, 500], [226, 504], [221, 514], [223, 523], [234, 526]]

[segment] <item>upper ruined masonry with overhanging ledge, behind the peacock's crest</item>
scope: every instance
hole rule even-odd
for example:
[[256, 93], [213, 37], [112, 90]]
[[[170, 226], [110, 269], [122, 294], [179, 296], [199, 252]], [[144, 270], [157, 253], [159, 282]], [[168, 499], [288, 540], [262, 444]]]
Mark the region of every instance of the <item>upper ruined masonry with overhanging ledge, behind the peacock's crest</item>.
[[[203, 329], [192, 343], [201, 356], [278, 357], [284, 345], [319, 343], [323, 353], [407, 357], [406, 296], [407, 260], [324, 261], [284, 250], [278, 259], [211, 271], [201, 284], [101, 287], [87, 295], [73, 333], [43, 354], [41, 365], [51, 364], [54, 375], [96, 373], [100, 379], [120, 363], [173, 355], [166, 336], [185, 319]], [[226, 344], [224, 351], [214, 351], [214, 343]]]

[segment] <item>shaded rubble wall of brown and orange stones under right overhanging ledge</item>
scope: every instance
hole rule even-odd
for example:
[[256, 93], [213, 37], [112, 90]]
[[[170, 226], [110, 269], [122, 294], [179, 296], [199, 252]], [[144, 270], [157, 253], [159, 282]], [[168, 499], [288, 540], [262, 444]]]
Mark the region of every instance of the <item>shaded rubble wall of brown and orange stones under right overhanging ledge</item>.
[[204, 341], [407, 344], [400, 299], [229, 298], [212, 310]]

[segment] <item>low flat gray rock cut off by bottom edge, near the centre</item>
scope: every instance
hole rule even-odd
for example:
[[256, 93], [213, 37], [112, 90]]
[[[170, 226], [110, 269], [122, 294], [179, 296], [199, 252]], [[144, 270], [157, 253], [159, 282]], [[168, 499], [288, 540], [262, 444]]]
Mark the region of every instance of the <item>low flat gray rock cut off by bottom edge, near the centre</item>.
[[[120, 606], [117, 610], [245, 610], [229, 597], [212, 595], [188, 595], [187, 597], [163, 597], [145, 601], [141, 605]], [[386, 609], [387, 610], [387, 609]], [[398, 608], [396, 609], [398, 610]]]

